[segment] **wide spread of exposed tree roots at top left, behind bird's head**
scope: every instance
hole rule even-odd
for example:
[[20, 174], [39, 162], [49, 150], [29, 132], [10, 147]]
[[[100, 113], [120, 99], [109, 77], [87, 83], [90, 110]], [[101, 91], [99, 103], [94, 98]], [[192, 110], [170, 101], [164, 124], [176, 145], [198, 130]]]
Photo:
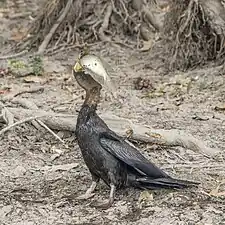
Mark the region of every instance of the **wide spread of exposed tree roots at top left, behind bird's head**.
[[[32, 22], [27, 37], [17, 47], [20, 50], [36, 48], [39, 54], [43, 54], [49, 48], [54, 52], [63, 47], [96, 41], [119, 41], [125, 45], [135, 43], [143, 24], [146, 29], [160, 29], [160, 23], [151, 13], [151, 7], [148, 7], [152, 2], [155, 1], [46, 1], [46, 5]], [[138, 42], [137, 47], [139, 44]]]

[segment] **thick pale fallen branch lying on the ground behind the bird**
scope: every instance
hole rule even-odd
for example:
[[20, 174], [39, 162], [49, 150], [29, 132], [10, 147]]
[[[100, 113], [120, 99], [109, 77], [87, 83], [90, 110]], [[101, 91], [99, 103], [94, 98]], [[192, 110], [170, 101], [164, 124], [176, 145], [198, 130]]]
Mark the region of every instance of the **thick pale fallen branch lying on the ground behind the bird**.
[[[8, 108], [18, 119], [35, 115], [42, 116], [40, 120], [52, 130], [75, 131], [76, 115], [56, 114], [43, 110], [27, 110], [21, 108]], [[179, 130], [152, 129], [144, 125], [137, 125], [128, 119], [117, 116], [102, 114], [101, 118], [108, 124], [109, 128], [118, 135], [145, 143], [152, 143], [164, 146], [181, 146], [206, 155], [214, 155], [219, 152], [217, 149], [207, 147], [202, 141]]]

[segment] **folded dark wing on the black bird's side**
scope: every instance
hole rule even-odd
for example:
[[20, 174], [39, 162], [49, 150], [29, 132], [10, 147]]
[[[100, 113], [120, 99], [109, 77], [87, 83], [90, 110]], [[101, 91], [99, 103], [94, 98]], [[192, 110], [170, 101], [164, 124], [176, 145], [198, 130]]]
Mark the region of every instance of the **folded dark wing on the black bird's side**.
[[152, 178], [169, 177], [161, 169], [148, 161], [138, 149], [113, 132], [103, 132], [100, 135], [100, 144], [106, 151], [133, 167], [141, 175], [147, 175]]

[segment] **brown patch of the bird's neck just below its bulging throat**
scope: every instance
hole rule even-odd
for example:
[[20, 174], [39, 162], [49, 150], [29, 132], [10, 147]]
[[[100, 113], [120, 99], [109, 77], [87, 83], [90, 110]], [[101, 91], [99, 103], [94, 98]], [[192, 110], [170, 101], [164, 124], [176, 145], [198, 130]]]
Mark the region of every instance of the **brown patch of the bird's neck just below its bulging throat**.
[[90, 90], [86, 90], [86, 97], [83, 105], [88, 105], [91, 108], [97, 108], [100, 102], [101, 87], [93, 87]]

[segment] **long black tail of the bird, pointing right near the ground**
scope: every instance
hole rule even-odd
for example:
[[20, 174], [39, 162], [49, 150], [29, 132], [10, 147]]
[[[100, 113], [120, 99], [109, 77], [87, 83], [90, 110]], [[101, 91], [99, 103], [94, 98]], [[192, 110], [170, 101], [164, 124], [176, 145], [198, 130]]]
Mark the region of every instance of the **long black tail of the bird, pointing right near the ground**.
[[199, 183], [186, 181], [186, 180], [178, 180], [173, 179], [171, 177], [163, 177], [163, 178], [149, 178], [149, 177], [141, 177], [136, 178], [133, 183], [134, 186], [144, 189], [159, 189], [159, 188], [167, 188], [167, 189], [182, 189], [197, 186]]

